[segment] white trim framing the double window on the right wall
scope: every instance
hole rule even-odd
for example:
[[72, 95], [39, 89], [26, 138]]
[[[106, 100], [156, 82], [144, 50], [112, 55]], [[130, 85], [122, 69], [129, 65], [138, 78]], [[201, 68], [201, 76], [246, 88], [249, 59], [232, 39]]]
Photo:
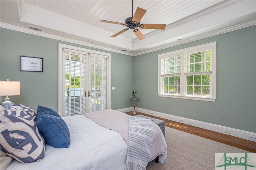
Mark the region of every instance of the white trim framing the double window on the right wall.
[[[195, 97], [195, 96], [185, 96], [182, 94], [179, 95], [165, 95], [165, 94], [161, 94], [161, 58], [163, 57], [169, 57], [169, 56], [176, 56], [176, 55], [181, 55], [182, 53], [188, 53], [188, 52], [192, 52], [192, 51], [197, 51], [197, 50], [202, 50], [202, 49], [206, 49], [210, 47], [212, 49], [212, 81], [210, 82], [211, 85], [211, 94], [212, 97]], [[182, 67], [184, 65], [184, 59], [183, 57], [181, 58], [182, 60]], [[182, 71], [182, 75], [184, 76], [184, 73]], [[186, 86], [186, 82], [182, 82], [180, 81], [180, 85]], [[159, 97], [170, 97], [170, 98], [176, 98], [178, 99], [190, 99], [190, 100], [199, 100], [199, 101], [212, 101], [215, 102], [216, 100], [216, 42], [211, 42], [211, 43], [206, 43], [206, 44], [202, 44], [202, 45], [197, 45], [194, 47], [188, 47], [188, 48], [184, 48], [184, 49], [179, 49], [176, 51], [171, 51], [171, 52], [167, 52], [167, 53], [162, 53], [162, 54], [158, 54], [158, 96]]]

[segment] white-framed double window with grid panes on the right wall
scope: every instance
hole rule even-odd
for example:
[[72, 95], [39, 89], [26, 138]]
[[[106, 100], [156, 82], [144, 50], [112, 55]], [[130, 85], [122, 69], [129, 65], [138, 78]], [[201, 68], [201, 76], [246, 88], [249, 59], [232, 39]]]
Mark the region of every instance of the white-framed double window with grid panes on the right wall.
[[215, 101], [216, 42], [158, 55], [158, 95]]

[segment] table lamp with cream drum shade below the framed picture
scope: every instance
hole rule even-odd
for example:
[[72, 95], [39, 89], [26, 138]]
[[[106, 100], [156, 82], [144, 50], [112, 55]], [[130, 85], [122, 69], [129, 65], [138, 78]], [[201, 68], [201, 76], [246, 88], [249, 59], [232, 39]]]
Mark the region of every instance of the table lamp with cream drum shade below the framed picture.
[[0, 96], [6, 96], [2, 106], [4, 109], [7, 109], [12, 105], [12, 102], [9, 101], [8, 96], [20, 95], [20, 81], [0, 81]]

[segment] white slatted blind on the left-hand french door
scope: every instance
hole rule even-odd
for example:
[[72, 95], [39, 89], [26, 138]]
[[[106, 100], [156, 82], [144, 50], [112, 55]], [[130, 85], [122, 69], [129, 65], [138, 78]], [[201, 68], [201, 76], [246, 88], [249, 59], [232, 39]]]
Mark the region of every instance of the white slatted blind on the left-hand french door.
[[72, 49], [63, 49], [64, 88], [62, 111], [65, 116], [86, 113], [86, 57], [87, 53]]

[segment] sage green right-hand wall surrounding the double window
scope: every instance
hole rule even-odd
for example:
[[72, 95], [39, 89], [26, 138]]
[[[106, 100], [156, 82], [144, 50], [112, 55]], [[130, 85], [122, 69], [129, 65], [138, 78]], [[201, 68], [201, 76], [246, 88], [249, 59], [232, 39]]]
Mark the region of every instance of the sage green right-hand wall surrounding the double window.
[[[216, 101], [158, 97], [158, 54], [216, 42]], [[256, 132], [256, 26], [134, 57], [137, 107]]]

